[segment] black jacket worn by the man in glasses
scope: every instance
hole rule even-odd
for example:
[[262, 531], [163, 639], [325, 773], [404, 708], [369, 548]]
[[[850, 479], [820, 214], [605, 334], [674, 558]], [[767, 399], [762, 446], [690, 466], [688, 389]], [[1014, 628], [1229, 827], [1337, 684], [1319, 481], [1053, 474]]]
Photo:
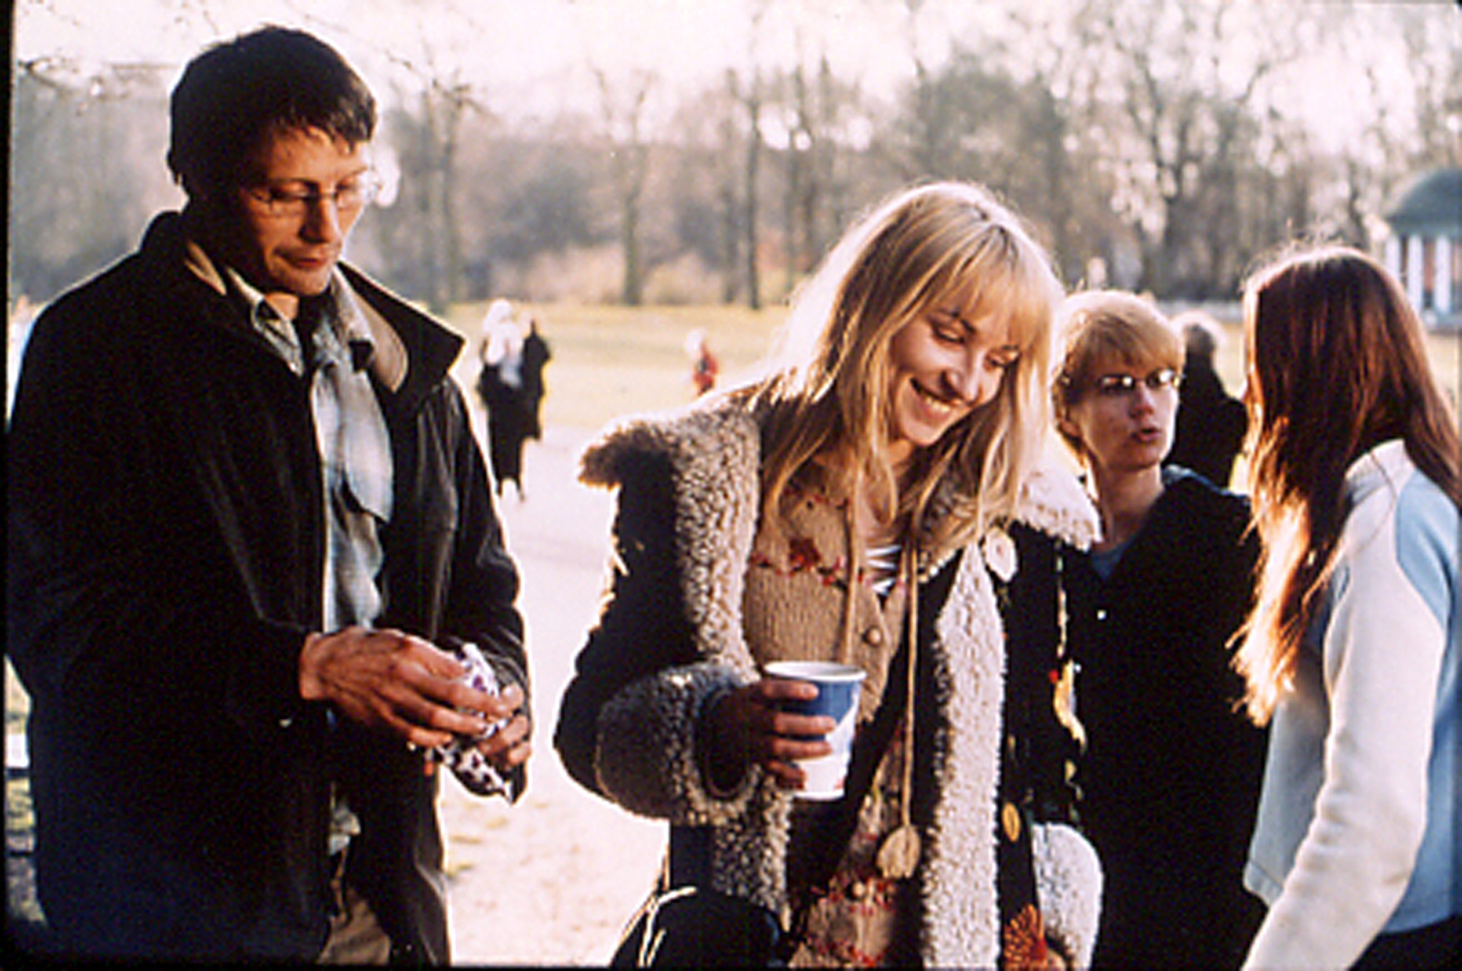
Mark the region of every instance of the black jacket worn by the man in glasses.
[[[7, 636], [42, 908], [72, 951], [313, 958], [333, 779], [396, 956], [446, 961], [436, 777], [300, 698], [325, 556], [308, 386], [184, 265], [180, 225], [57, 300], [18, 388]], [[516, 567], [447, 379], [461, 339], [344, 272], [409, 361], [396, 390], [373, 374], [395, 462], [377, 626], [474, 641], [526, 690]]]

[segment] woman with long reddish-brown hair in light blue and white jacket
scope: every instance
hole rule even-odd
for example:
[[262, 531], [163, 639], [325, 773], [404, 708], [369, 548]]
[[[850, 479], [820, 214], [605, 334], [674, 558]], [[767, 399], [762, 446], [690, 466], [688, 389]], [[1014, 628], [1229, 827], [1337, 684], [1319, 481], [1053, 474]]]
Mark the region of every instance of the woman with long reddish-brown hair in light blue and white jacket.
[[1456, 417], [1361, 253], [1281, 257], [1244, 323], [1263, 554], [1238, 667], [1272, 718], [1249, 967], [1458, 967]]

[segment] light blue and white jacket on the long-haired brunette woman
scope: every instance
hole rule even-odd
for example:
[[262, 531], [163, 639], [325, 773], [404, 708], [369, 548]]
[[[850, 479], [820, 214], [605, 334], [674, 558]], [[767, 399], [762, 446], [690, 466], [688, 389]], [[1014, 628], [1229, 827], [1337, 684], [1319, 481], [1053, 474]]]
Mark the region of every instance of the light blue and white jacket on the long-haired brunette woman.
[[1387, 442], [1347, 474], [1326, 602], [1270, 730], [1246, 967], [1342, 968], [1462, 913], [1462, 513]]

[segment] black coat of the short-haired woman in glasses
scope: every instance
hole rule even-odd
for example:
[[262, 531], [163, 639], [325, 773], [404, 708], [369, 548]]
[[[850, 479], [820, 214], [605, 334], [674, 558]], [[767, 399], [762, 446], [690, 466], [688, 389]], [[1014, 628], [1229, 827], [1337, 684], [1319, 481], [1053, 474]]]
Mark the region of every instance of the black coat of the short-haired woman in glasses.
[[1253, 591], [1249, 505], [1183, 469], [1102, 581], [1066, 553], [1088, 749], [1080, 817], [1105, 873], [1096, 967], [1237, 967], [1262, 917], [1243, 864], [1265, 733], [1225, 646]]

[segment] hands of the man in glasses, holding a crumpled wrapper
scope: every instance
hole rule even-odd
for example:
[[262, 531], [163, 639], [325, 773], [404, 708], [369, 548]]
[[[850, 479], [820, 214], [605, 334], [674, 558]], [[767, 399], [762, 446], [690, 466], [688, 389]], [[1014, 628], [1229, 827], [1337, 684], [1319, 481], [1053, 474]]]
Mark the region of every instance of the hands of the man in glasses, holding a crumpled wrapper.
[[[522, 706], [522, 689], [494, 698], [453, 680], [465, 673], [466, 668], [450, 654], [421, 638], [399, 630], [346, 627], [329, 635], [311, 633], [304, 639], [300, 696], [330, 702], [352, 721], [393, 731], [423, 749], [434, 749], [450, 741], [452, 736], [480, 736], [491, 722], [513, 715]], [[458, 709], [482, 712], [482, 717]], [[519, 721], [523, 724], [518, 725]], [[526, 746], [522, 741], [528, 734], [526, 722], [518, 715], [484, 744], [496, 743], [499, 757], [512, 757], [515, 740]], [[504, 734], [507, 738], [499, 743], [497, 737]], [[523, 752], [518, 762], [526, 757]]]

